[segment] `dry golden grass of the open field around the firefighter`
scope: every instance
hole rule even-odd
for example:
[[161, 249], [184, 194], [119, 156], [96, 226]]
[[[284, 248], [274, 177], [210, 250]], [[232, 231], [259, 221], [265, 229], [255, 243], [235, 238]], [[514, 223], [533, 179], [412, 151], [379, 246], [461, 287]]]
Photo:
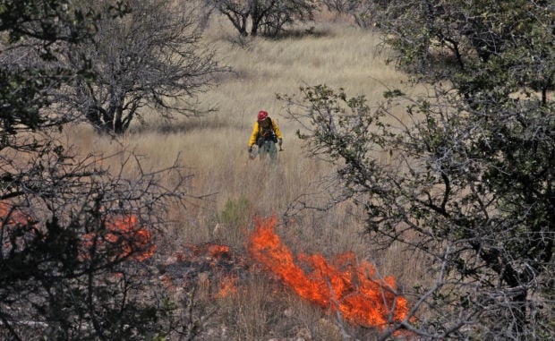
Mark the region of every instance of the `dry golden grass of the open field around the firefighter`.
[[[293, 94], [301, 86], [327, 84], [343, 87], [349, 96], [362, 94], [372, 105], [381, 100], [386, 85], [406, 93], [413, 91], [402, 83], [406, 75], [385, 64], [384, 56], [377, 54], [378, 36], [342, 22], [317, 23], [315, 32], [276, 40], [254, 38], [239, 47], [232, 42], [235, 31], [228, 22], [215, 20], [206, 35], [207, 45], [218, 51], [221, 64], [234, 71], [221, 75], [218, 85], [199, 99], [203, 107], [216, 106], [218, 112], [177, 118], [170, 125], [147, 117], [147, 127], [134, 126], [118, 142], [78, 126], [68, 131], [70, 141], [83, 153], [131, 149], [143, 157], [145, 169], [170, 166], [179, 158], [194, 175], [191, 194], [212, 195], [194, 200], [186, 209], [171, 211], [175, 223], [167, 226], [160, 249], [171, 252], [185, 243], [218, 241], [240, 251], [254, 216], [279, 217], [299, 196], [319, 192], [320, 177], [332, 172], [328, 165], [303, 155], [302, 142], [295, 138], [297, 126], [286, 121], [284, 104], [276, 99], [276, 93]], [[278, 154], [278, 165], [273, 168], [247, 157], [252, 124], [261, 109], [277, 121], [284, 136], [285, 150]], [[369, 254], [361, 235], [363, 221], [355, 218], [355, 211], [351, 204], [327, 213], [307, 211], [294, 223], [278, 226], [278, 233], [293, 250], [325, 255], [354, 251], [361, 259], [375, 260], [380, 274], [395, 275], [402, 285], [421, 281], [423, 263], [403, 250]], [[240, 217], [223, 213], [238, 213]], [[219, 303], [224, 304], [221, 311], [230, 323], [238, 319], [235, 331], [227, 330], [228, 335], [237, 337], [243, 332], [239, 339], [252, 340], [278, 337], [280, 331], [272, 326], [278, 326], [279, 316], [289, 311], [286, 313], [295, 316], [295, 328], [310, 328], [313, 339], [340, 339], [334, 323], [322, 322], [310, 304], [289, 297], [286, 304], [269, 305], [265, 303], [272, 294], [268, 285], [260, 278], [249, 283], [247, 294], [228, 299], [227, 304]]]

